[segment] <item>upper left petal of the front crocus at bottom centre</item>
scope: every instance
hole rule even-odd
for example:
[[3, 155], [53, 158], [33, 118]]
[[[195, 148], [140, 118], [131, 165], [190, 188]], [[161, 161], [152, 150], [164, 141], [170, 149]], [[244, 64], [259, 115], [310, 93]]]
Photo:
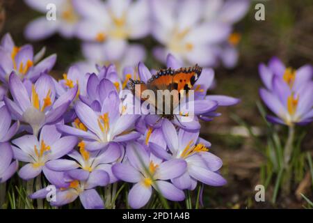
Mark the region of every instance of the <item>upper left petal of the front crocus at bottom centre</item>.
[[137, 183], [142, 178], [141, 173], [127, 163], [114, 164], [112, 166], [112, 172], [120, 180], [124, 180], [129, 183]]

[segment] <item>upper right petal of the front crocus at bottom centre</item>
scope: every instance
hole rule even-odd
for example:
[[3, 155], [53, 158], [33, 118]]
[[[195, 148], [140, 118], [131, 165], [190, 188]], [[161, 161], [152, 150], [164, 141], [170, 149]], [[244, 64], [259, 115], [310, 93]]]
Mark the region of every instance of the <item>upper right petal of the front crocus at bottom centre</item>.
[[159, 180], [168, 180], [177, 178], [186, 171], [187, 163], [182, 159], [172, 159], [162, 162], [155, 173], [155, 178]]

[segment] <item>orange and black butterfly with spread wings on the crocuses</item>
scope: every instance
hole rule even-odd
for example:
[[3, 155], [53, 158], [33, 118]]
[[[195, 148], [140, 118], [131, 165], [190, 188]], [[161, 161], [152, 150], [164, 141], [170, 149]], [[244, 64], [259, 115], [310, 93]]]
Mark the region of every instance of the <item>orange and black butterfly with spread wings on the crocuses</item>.
[[[199, 79], [200, 74], [202, 72], [202, 68], [196, 64], [193, 67], [189, 68], [179, 68], [179, 69], [162, 69], [159, 70], [155, 75], [153, 75], [150, 79], [148, 79], [147, 83], [142, 82], [140, 80], [129, 79], [129, 89], [132, 91], [137, 98], [141, 100], [148, 100], [150, 105], [152, 104], [157, 111], [166, 111], [166, 107], [170, 108], [170, 114], [161, 114], [161, 117], [173, 119], [174, 114], [173, 110], [179, 105], [179, 102], [182, 100], [182, 90], [184, 93], [188, 95], [188, 91], [193, 88], [195, 82]], [[140, 88], [136, 88], [135, 86], [139, 84]], [[136, 90], [137, 89], [137, 90]], [[140, 91], [138, 91], [140, 89]], [[170, 105], [166, 105], [168, 100], [163, 100], [163, 107], [157, 107], [157, 100], [149, 101], [147, 96], [143, 95], [143, 91], [152, 90], [154, 95], [157, 95], [158, 90], [176, 90], [177, 95], [172, 95], [170, 100]]]

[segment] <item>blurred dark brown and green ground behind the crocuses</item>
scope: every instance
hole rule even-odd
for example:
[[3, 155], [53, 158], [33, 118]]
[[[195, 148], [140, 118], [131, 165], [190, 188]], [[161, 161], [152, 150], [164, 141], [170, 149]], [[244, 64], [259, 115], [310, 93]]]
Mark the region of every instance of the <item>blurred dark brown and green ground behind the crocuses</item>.
[[[265, 21], [255, 20], [255, 4], [264, 3]], [[57, 34], [46, 40], [29, 42], [24, 38], [24, 27], [33, 18], [42, 15], [24, 4], [22, 0], [0, 1], [1, 35], [9, 32], [16, 45], [31, 43], [35, 52], [47, 47], [46, 55], [57, 53], [58, 59], [51, 73], [60, 77], [70, 64], [83, 59], [80, 40], [66, 40]], [[275, 0], [251, 1], [250, 9], [234, 30], [239, 32], [239, 62], [236, 68], [214, 68], [216, 87], [209, 93], [231, 95], [240, 98], [239, 105], [222, 107], [222, 116], [209, 123], [202, 123], [202, 137], [211, 141], [211, 152], [222, 158], [222, 174], [228, 184], [223, 188], [206, 187], [204, 204], [208, 208], [302, 208], [305, 201], [299, 196], [305, 193], [312, 200], [310, 174], [300, 172], [288, 197], [278, 196], [271, 203], [273, 184], [266, 188], [266, 201], [255, 201], [255, 185], [261, 183], [260, 168], [266, 162], [264, 151], [255, 146], [248, 130], [241, 124], [252, 127], [264, 148], [266, 147], [266, 128], [259, 115], [256, 102], [259, 101], [258, 89], [262, 86], [258, 74], [259, 63], [267, 63], [272, 56], [278, 56], [287, 66], [298, 68], [313, 61], [313, 1], [312, 0]], [[134, 43], [139, 41], [134, 41]], [[145, 63], [149, 68], [163, 68], [152, 56], [152, 48], [157, 45], [150, 36], [140, 40], [147, 51]], [[312, 95], [313, 97], [313, 95]], [[301, 151], [312, 153], [313, 126], [305, 127], [307, 134]], [[278, 127], [285, 135], [285, 129]], [[304, 163], [303, 165], [307, 165]], [[300, 187], [300, 188], [299, 188]]]

